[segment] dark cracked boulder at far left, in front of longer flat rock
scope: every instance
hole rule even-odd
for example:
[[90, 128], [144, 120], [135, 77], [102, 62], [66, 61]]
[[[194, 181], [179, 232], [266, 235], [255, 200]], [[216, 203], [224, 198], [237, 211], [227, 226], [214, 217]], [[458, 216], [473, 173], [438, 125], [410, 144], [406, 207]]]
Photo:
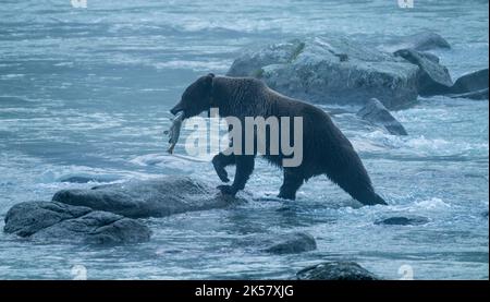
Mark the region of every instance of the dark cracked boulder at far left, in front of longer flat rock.
[[57, 202], [25, 202], [5, 216], [7, 233], [36, 242], [119, 244], [149, 240], [150, 230], [142, 222], [88, 207]]

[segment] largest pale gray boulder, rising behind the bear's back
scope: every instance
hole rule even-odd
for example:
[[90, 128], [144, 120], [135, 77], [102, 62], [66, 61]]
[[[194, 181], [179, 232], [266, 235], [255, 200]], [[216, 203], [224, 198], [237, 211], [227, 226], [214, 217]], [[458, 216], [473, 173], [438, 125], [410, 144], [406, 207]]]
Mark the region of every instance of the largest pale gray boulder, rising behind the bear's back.
[[311, 102], [364, 105], [377, 97], [387, 108], [397, 108], [416, 100], [417, 71], [392, 53], [331, 35], [248, 51], [228, 75], [257, 77], [284, 95]]

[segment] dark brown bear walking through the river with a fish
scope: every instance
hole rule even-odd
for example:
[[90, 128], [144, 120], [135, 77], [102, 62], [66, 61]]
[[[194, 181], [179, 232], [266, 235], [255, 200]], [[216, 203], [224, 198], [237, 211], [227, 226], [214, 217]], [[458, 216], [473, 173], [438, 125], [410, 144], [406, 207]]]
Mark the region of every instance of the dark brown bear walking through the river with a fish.
[[[387, 204], [375, 192], [351, 142], [323, 110], [281, 95], [257, 78], [215, 76], [211, 73], [191, 84], [171, 112], [176, 114], [183, 111], [186, 119], [210, 108], [218, 108], [221, 117], [236, 117], [240, 120], [245, 117], [303, 118], [303, 160], [299, 166], [283, 167], [282, 159], [285, 156], [282, 153], [264, 155], [271, 164], [283, 169], [284, 179], [279, 197], [294, 200], [296, 191], [305, 181], [315, 176], [327, 174], [331, 181], [365, 205]], [[218, 186], [223, 194], [234, 195], [245, 188], [254, 170], [256, 155], [225, 155], [221, 152], [213, 157], [212, 164], [223, 182], [229, 181], [224, 168], [236, 165], [233, 184]]]

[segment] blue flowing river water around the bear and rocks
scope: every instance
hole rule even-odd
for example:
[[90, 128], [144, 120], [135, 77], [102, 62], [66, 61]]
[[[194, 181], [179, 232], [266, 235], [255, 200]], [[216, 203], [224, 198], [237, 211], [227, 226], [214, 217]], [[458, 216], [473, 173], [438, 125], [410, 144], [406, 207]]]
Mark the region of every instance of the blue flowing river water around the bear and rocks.
[[[453, 46], [434, 52], [453, 78], [488, 67], [488, 1], [232, 2], [88, 0], [76, 9], [70, 0], [2, 0], [0, 217], [60, 189], [132, 178], [192, 174], [218, 185], [209, 162], [167, 156], [163, 131], [183, 89], [225, 73], [246, 47], [323, 33], [376, 44], [432, 29]], [[247, 184], [253, 202], [146, 219], [147, 243], [33, 244], [1, 232], [0, 278], [70, 279], [75, 265], [94, 279], [290, 278], [351, 259], [390, 279], [406, 267], [416, 279], [488, 279], [488, 109], [486, 100], [419, 98], [394, 112], [406, 137], [336, 114], [389, 206], [357, 208], [321, 177], [295, 202], [273, 198], [282, 173], [259, 160]], [[69, 177], [97, 181], [62, 182]], [[407, 214], [430, 221], [373, 224]], [[292, 230], [311, 233], [318, 249], [278, 256], [237, 244]]]

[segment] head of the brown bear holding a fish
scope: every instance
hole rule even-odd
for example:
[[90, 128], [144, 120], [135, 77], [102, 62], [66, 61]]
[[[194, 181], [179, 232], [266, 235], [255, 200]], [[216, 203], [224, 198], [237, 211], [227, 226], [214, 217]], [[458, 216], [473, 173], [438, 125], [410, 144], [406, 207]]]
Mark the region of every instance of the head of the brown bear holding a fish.
[[184, 119], [192, 118], [211, 108], [212, 80], [215, 74], [210, 73], [197, 78], [182, 94], [181, 101], [173, 107], [170, 112], [176, 114], [184, 113]]

